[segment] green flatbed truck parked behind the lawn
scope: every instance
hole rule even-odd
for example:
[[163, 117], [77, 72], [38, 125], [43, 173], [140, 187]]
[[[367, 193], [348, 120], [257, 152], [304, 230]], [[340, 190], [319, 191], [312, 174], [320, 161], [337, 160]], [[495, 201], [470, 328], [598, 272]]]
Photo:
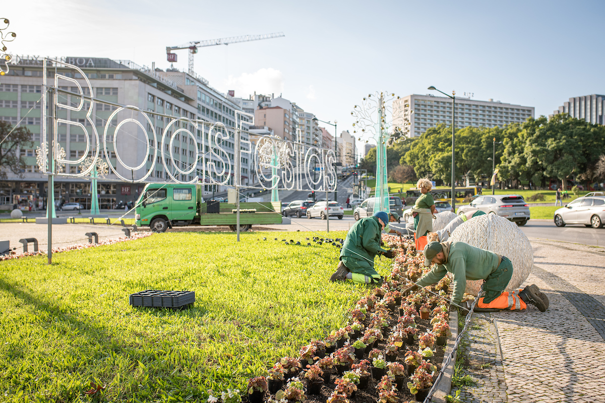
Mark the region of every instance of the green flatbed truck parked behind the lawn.
[[[149, 183], [137, 200], [134, 210], [139, 227], [149, 225], [154, 232], [164, 232], [172, 227], [187, 225], [229, 225], [237, 230], [235, 204], [204, 203], [201, 196], [202, 185]], [[247, 231], [252, 225], [281, 224], [280, 202], [240, 203], [240, 231]], [[211, 210], [211, 212], [209, 211]]]

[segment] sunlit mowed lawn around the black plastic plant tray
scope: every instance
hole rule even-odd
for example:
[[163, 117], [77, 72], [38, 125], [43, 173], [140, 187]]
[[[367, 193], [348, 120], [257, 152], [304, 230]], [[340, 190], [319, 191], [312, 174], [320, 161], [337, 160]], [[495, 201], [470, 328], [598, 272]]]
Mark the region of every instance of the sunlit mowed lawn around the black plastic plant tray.
[[[91, 381], [105, 385], [105, 401], [245, 390], [342, 326], [368, 291], [329, 282], [338, 248], [305, 239], [313, 235], [243, 233], [238, 243], [231, 233], [165, 233], [57, 253], [50, 266], [46, 256], [0, 262], [0, 401], [91, 401]], [[145, 289], [195, 291], [195, 305], [129, 306]]]

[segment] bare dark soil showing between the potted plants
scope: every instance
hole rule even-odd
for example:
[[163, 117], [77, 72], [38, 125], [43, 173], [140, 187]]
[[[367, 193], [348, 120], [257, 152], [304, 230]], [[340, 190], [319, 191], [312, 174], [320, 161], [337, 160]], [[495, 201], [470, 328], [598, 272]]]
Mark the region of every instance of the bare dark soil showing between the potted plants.
[[[394, 310], [395, 312], [397, 312], [397, 310]], [[369, 316], [369, 315], [368, 315]], [[399, 316], [395, 313], [395, 314], [391, 314], [391, 318], [390, 318], [390, 326], [393, 327], [395, 324], [397, 324], [397, 319], [399, 318]], [[367, 326], [369, 324], [370, 320], [369, 318], [366, 318], [364, 321], [364, 324]], [[422, 320], [420, 319], [420, 317], [416, 317], [416, 326], [419, 329], [420, 332], [426, 332], [427, 330], [431, 330], [431, 326], [430, 326], [430, 320]], [[388, 335], [387, 335], [388, 337]], [[387, 337], [385, 337], [385, 340], [382, 340], [378, 343], [378, 346], [376, 348], [378, 348], [379, 350], [384, 350], [385, 349], [385, 341], [387, 339]], [[351, 342], [353, 342], [355, 339], [351, 339]], [[436, 353], [435, 353], [435, 357], [436, 359], [434, 359], [433, 364], [437, 367], [437, 371], [436, 373], [439, 373], [440, 369], [441, 369], [441, 364], [443, 361], [443, 352], [444, 352], [444, 348], [445, 346], [436, 346]], [[405, 364], [404, 363], [404, 358], [405, 358], [405, 352], [408, 350], [418, 350], [419, 349], [419, 345], [418, 345], [418, 341], [416, 340], [414, 342], [413, 345], [408, 346], [407, 344], [404, 343], [403, 346], [401, 346], [399, 348], [399, 352], [397, 354], [397, 362], [399, 364]], [[368, 356], [367, 354], [364, 355], [364, 359], [367, 359]], [[358, 363], [359, 361], [355, 361], [355, 363]], [[304, 375], [304, 371], [301, 371], [298, 375], [298, 377], [303, 381], [303, 383], [306, 385], [306, 380], [304, 380], [303, 378]], [[325, 401], [327, 401], [327, 399], [329, 398], [329, 396], [332, 394], [332, 392], [334, 391], [335, 388], [335, 384], [334, 381], [336, 380], [336, 378], [338, 377], [338, 373], [336, 373], [336, 369], [332, 370], [332, 376], [330, 378], [330, 384], [328, 385], [323, 385], [321, 387], [321, 395], [308, 395], [306, 394], [306, 399], [305, 399], [305, 403], [325, 403]], [[370, 378], [370, 382], [368, 382], [368, 386], [365, 389], [358, 389], [357, 392], [355, 393], [355, 396], [349, 396], [348, 400], [351, 403], [373, 403], [376, 402], [378, 400], [378, 390], [376, 389], [376, 385], [378, 385], [378, 382], [380, 381], [380, 379], [372, 379]], [[400, 390], [397, 393], [397, 396], [399, 397], [399, 401], [400, 402], [405, 402], [405, 401], [415, 401], [414, 399], [414, 395], [412, 395], [410, 393], [410, 390], [408, 390], [407, 388], [407, 382], [410, 381], [409, 377], [406, 377], [405, 382], [404, 382], [404, 390]], [[284, 384], [283, 388], [285, 388], [286, 385]], [[275, 397], [274, 395], [269, 395], [269, 392], [266, 393], [265, 395], [265, 401], [267, 401], [269, 399], [269, 397]]]

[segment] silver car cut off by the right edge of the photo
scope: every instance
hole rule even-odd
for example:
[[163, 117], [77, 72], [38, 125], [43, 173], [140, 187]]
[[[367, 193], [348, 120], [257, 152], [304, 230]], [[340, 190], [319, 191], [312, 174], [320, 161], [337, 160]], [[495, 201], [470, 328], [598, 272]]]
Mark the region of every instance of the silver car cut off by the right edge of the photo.
[[605, 196], [583, 196], [555, 211], [555, 225], [584, 224], [602, 228], [605, 222]]

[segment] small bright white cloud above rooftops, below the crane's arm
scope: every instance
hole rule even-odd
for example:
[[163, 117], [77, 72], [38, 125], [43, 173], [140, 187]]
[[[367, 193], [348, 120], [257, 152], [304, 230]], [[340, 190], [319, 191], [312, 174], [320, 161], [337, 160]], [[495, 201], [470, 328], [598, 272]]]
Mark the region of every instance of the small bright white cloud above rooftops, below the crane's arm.
[[[281, 94], [284, 91], [284, 75], [273, 68], [261, 68], [256, 73], [242, 73], [225, 80], [227, 89], [233, 89], [236, 97], [246, 98], [254, 94]], [[276, 95], [277, 96], [277, 95]]]

